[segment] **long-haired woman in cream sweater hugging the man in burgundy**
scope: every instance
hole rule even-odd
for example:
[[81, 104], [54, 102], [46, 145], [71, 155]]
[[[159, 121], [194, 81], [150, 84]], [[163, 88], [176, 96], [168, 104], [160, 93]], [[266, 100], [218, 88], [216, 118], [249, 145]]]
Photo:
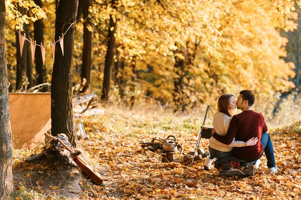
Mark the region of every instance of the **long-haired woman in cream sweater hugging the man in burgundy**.
[[[213, 117], [213, 127], [217, 134], [225, 135], [228, 131], [229, 124], [232, 118], [232, 110], [236, 108], [234, 96], [231, 94], [223, 94], [219, 97], [217, 102], [217, 110]], [[229, 145], [224, 144], [211, 137], [209, 139], [209, 152], [210, 156], [208, 156], [204, 163], [204, 169], [210, 170], [211, 163], [216, 158], [227, 158], [231, 157], [232, 147], [242, 147], [242, 146], [251, 146], [255, 145], [258, 142], [257, 137], [252, 137], [246, 142], [244, 141], [236, 141], [233, 139], [232, 143]]]

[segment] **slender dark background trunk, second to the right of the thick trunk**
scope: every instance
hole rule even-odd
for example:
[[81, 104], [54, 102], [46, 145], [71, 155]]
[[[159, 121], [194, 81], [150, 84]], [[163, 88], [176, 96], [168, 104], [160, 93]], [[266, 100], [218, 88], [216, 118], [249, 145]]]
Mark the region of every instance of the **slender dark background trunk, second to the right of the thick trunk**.
[[[117, 0], [112, 0], [112, 8], [117, 8]], [[107, 52], [104, 61], [104, 75], [102, 83], [101, 100], [107, 101], [109, 99], [112, 63], [115, 51], [115, 34], [116, 32], [116, 19], [110, 15], [108, 37], [107, 37]]]

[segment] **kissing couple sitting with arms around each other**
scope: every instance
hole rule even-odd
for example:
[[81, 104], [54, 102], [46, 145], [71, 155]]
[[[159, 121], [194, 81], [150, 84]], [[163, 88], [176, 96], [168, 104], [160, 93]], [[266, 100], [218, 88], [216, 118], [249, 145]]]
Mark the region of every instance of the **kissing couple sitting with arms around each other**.
[[[218, 112], [213, 117], [213, 135], [209, 140], [210, 156], [205, 160], [204, 169], [210, 170], [216, 158], [236, 157], [254, 163], [257, 170], [264, 152], [269, 171], [277, 173], [273, 144], [264, 118], [251, 109], [254, 101], [251, 90], [240, 91], [236, 102], [231, 94], [219, 97]], [[242, 112], [232, 116], [236, 106]]]

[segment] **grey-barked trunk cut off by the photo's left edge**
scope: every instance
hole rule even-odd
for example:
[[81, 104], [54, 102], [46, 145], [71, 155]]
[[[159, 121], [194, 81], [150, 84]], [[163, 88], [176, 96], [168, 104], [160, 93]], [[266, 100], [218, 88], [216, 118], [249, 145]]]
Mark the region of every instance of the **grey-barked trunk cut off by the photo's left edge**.
[[0, 0], [0, 199], [13, 191], [13, 143], [5, 51], [5, 0]]

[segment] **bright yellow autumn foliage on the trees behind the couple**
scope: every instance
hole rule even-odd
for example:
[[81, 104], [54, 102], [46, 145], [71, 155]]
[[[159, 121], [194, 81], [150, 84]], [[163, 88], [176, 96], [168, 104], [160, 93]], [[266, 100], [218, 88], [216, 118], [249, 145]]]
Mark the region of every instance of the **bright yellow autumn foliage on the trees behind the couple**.
[[[31, 7], [31, 12], [23, 16], [16, 2], [7, 1], [12, 84], [16, 70], [12, 28], [22, 29], [24, 22], [32, 27], [30, 20], [44, 18], [44, 23], [50, 24], [44, 30], [48, 44], [54, 38], [55, 22], [54, 0], [44, 1], [43, 10], [33, 1], [19, 0], [19, 6]], [[180, 106], [192, 108], [200, 103], [213, 104], [222, 93], [237, 95], [241, 89], [252, 89], [256, 93], [256, 106], [268, 112], [279, 92], [294, 87], [289, 81], [294, 76], [294, 65], [283, 60], [287, 39], [279, 33], [280, 28], [286, 31], [296, 28], [293, 5], [294, 2], [287, 0], [119, 0], [114, 9], [111, 3], [97, 0], [88, 15], [88, 29], [93, 31], [92, 90], [101, 91], [108, 20], [112, 16], [117, 23], [118, 56], [115, 55], [114, 62], [124, 63], [123, 71], [116, 74], [125, 80], [125, 99], [147, 97], [169, 106], [177, 104], [175, 99], [182, 99]], [[80, 83], [83, 21], [78, 18], [76, 23], [75, 83]], [[178, 58], [184, 62], [182, 71], [175, 67]], [[46, 68], [50, 81], [49, 49]], [[175, 92], [175, 81], [179, 78], [180, 93]], [[116, 96], [111, 99], [120, 98], [118, 91], [117, 87], [112, 92]]]

